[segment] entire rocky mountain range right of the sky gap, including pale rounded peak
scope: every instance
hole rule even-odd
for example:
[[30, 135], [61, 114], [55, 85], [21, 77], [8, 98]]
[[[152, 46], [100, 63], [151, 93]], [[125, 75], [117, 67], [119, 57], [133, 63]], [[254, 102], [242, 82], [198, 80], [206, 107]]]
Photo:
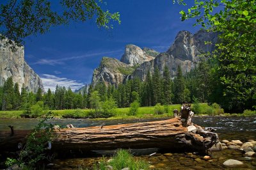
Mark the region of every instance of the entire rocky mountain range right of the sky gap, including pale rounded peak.
[[[212, 52], [217, 42], [216, 33], [198, 31], [195, 35], [188, 31], [180, 31], [170, 48], [163, 53], [136, 45], [125, 47], [122, 62], [117, 59], [103, 58], [99, 68], [93, 72], [92, 84], [105, 82], [108, 84], [119, 84], [126, 79], [140, 77], [145, 80], [147, 72], [153, 73], [156, 68], [163, 73], [164, 66], [170, 70], [171, 77], [177, 74], [177, 67], [180, 65], [182, 72], [190, 72], [200, 60], [200, 54]], [[205, 42], [212, 44], [205, 45]]]

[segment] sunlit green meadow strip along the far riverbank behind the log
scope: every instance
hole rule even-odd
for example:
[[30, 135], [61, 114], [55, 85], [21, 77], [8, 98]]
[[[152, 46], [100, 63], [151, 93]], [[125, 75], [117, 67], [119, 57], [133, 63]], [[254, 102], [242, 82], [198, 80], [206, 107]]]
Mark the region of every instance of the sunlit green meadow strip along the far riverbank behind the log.
[[[129, 107], [115, 109], [115, 116], [108, 119], [132, 119], [132, 118], [161, 118], [173, 116], [173, 110], [180, 111], [179, 104], [168, 105], [168, 112], [157, 114], [155, 107], [139, 107], [138, 113], [134, 116], [129, 116]], [[164, 109], [164, 106], [161, 106]], [[191, 105], [193, 111], [193, 104]], [[68, 110], [54, 110], [53, 116], [56, 118], [88, 118], [88, 115], [93, 110], [91, 109], [68, 109]], [[20, 118], [23, 111], [0, 111], [0, 118]], [[198, 116], [256, 116], [255, 111], [246, 110], [242, 114], [228, 114], [224, 113], [218, 105], [209, 106], [205, 103], [200, 104], [200, 114]], [[102, 118], [100, 118], [102, 119]]]

